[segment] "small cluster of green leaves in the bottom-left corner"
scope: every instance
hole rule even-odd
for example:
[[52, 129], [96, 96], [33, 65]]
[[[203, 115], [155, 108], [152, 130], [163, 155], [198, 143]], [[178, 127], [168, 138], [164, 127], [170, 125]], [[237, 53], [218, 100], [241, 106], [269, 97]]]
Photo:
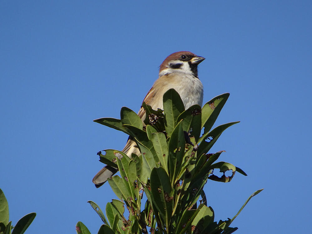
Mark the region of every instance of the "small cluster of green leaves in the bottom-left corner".
[[[29, 213], [17, 221], [15, 227], [9, 222], [9, 206], [4, 193], [0, 189], [0, 234], [22, 234], [32, 223], [36, 213]], [[12, 232], [11, 232], [12, 231]]]

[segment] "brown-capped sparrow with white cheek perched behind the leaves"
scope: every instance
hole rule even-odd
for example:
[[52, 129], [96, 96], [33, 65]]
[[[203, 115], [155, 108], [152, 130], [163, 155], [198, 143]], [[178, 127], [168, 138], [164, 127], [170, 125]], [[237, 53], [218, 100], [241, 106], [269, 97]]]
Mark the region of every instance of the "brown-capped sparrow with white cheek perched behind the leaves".
[[[203, 85], [198, 79], [197, 65], [204, 59], [204, 57], [189, 51], [179, 51], [169, 55], [160, 65], [158, 79], [143, 101], [154, 110], [158, 108], [163, 110], [163, 95], [173, 88], [179, 93], [185, 110], [196, 104], [202, 106]], [[139, 110], [138, 115], [142, 121], [145, 119], [143, 107]], [[130, 137], [122, 151], [129, 158], [131, 158], [131, 154], [141, 154], [138, 146]], [[117, 171], [117, 168], [107, 165], [95, 175], [92, 182], [98, 188]]]

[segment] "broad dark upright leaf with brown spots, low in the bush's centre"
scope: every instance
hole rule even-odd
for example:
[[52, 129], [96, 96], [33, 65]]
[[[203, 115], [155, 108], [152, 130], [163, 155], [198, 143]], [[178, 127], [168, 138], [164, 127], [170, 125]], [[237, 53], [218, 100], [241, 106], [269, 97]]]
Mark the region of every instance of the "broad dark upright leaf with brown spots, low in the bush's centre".
[[169, 227], [173, 209], [173, 192], [168, 174], [161, 167], [154, 168], [150, 181], [153, 203], [164, 218], [166, 226]]

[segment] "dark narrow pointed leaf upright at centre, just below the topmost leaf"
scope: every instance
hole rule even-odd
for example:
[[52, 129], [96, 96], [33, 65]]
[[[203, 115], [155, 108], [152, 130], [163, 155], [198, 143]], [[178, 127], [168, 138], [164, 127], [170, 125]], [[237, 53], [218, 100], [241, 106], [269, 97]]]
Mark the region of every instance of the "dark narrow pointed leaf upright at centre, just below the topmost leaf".
[[185, 150], [185, 138], [182, 128], [182, 121], [180, 121], [173, 130], [169, 139], [168, 149], [169, 172], [172, 183], [171, 185], [173, 186], [180, 172]]

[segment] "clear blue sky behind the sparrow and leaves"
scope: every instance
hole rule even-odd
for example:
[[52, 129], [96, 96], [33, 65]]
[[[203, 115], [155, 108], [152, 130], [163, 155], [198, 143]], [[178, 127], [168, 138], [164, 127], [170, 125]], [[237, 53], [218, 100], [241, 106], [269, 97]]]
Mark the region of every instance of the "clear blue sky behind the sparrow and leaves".
[[116, 198], [91, 182], [96, 153], [127, 136], [92, 122], [139, 107], [171, 53], [206, 58], [204, 103], [231, 93], [211, 152], [248, 174], [208, 181], [216, 220], [235, 233], [307, 233], [311, 216], [311, 1], [0, 1], [1, 185], [26, 233], [97, 233]]

